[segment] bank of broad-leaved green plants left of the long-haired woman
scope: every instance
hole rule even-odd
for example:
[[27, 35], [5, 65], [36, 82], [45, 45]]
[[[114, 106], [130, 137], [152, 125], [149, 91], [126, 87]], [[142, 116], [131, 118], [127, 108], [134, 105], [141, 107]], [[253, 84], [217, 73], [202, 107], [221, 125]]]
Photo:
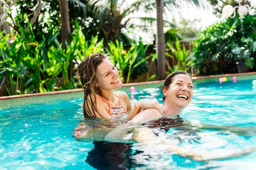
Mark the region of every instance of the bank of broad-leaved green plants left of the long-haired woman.
[[0, 78], [2, 73], [9, 76], [9, 95], [77, 87], [74, 65], [93, 52], [101, 52], [103, 40], [92, 37], [90, 44], [82, 31], [77, 31], [63, 50], [58, 29], [49, 28], [41, 41], [36, 41], [28, 18], [24, 18], [27, 28], [19, 28], [21, 34], [16, 35], [11, 47], [7, 41], [10, 34], [0, 33]]

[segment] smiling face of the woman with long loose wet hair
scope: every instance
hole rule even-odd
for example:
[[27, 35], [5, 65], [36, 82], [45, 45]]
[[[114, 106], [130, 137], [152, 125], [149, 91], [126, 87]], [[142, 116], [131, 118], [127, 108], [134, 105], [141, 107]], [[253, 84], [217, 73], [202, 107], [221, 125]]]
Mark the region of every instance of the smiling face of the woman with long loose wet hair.
[[119, 79], [119, 71], [108, 59], [103, 59], [98, 65], [96, 77], [96, 87], [99, 87], [100, 89], [112, 90], [122, 86]]

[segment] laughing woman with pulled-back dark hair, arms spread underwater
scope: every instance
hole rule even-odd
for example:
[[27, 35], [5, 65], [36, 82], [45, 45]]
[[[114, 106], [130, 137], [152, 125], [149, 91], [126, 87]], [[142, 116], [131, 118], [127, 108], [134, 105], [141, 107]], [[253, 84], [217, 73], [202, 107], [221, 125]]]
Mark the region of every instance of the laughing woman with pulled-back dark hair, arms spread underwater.
[[[209, 161], [215, 159], [227, 159], [232, 157], [240, 157], [256, 151], [254, 148], [245, 149], [219, 149], [211, 152], [203, 152], [200, 150], [189, 150], [182, 148], [172, 141], [161, 138], [151, 129], [163, 129], [168, 131], [172, 127], [190, 127], [196, 129], [216, 129], [228, 130], [237, 134], [251, 136], [255, 135], [256, 127], [238, 127], [238, 126], [215, 126], [209, 124], [191, 124], [187, 120], [180, 118], [182, 111], [189, 105], [193, 98], [193, 83], [189, 73], [184, 71], [176, 71], [167, 76], [162, 87], [163, 94], [163, 111], [164, 117], [146, 122], [144, 114], [137, 114], [127, 124], [117, 126], [109, 132], [104, 140], [108, 142], [137, 142], [149, 146], [161, 145], [166, 151], [175, 153], [180, 157], [193, 159], [195, 161]], [[175, 118], [175, 119], [173, 119]], [[137, 126], [143, 124], [146, 126]], [[132, 126], [133, 125], [133, 126]], [[127, 133], [128, 132], [128, 133]]]

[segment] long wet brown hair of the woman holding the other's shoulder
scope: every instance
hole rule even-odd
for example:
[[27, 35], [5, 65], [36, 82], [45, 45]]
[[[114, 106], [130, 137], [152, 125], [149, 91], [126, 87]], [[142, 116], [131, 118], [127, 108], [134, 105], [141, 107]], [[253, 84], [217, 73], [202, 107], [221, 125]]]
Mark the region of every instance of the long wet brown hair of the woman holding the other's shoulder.
[[[103, 59], [108, 59], [107, 55], [101, 53], [91, 54], [77, 68], [76, 75], [81, 81], [84, 90], [83, 116], [85, 118], [96, 118], [96, 94], [101, 94], [100, 89], [95, 86], [97, 83], [96, 72]], [[92, 105], [92, 110], [89, 105]]]

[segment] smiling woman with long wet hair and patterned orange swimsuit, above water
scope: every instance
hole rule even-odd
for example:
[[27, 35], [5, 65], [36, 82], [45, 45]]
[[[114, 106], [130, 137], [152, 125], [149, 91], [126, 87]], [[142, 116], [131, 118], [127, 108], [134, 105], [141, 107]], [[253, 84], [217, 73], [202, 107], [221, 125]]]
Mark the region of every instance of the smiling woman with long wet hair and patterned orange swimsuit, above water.
[[116, 118], [127, 114], [133, 118], [141, 109], [155, 108], [162, 113], [157, 100], [138, 101], [132, 107], [125, 92], [117, 91], [122, 86], [119, 71], [105, 54], [94, 53], [78, 66], [77, 76], [84, 90], [83, 115], [85, 118]]

